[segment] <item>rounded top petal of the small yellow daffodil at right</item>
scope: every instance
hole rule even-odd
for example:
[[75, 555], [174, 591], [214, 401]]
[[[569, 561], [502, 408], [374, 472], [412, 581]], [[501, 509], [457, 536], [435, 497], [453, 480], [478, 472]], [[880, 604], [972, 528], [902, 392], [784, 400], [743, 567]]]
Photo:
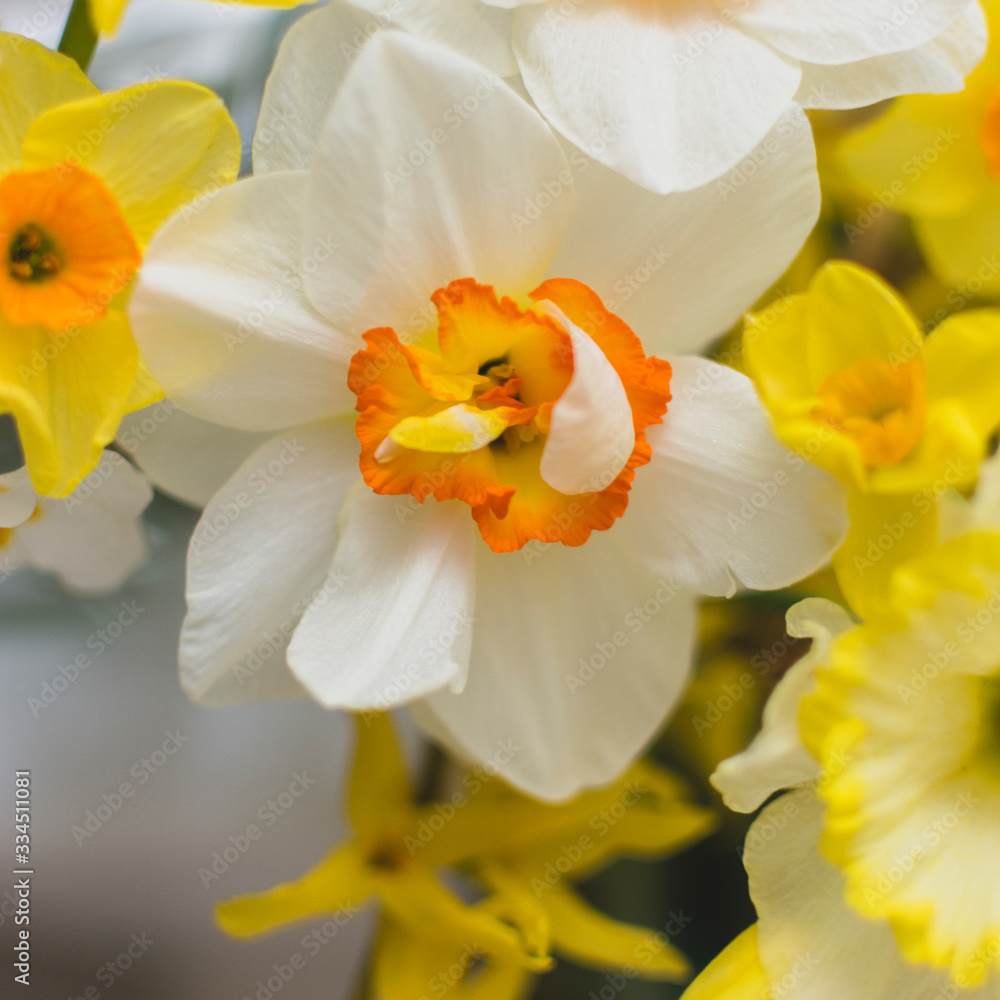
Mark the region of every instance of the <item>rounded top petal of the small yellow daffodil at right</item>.
[[892, 365], [922, 356], [923, 333], [907, 305], [857, 264], [835, 260], [821, 267], [808, 304], [809, 378], [815, 388], [871, 358]]

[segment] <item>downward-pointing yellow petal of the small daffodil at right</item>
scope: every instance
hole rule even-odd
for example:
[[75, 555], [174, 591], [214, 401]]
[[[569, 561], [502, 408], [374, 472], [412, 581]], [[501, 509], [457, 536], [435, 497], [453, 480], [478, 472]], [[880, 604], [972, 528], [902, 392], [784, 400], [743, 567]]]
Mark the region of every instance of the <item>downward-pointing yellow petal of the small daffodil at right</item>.
[[848, 604], [862, 618], [884, 609], [897, 566], [937, 544], [937, 504], [924, 499], [921, 504], [912, 494], [848, 494], [850, 527], [833, 568]]

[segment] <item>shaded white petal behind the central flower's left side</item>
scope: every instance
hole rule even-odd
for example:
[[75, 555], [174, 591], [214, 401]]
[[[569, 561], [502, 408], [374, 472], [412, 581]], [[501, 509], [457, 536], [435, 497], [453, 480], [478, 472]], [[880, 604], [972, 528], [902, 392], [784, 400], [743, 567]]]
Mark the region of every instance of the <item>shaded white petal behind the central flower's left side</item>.
[[199, 420], [164, 399], [126, 414], [116, 440], [157, 489], [204, 507], [267, 437]]

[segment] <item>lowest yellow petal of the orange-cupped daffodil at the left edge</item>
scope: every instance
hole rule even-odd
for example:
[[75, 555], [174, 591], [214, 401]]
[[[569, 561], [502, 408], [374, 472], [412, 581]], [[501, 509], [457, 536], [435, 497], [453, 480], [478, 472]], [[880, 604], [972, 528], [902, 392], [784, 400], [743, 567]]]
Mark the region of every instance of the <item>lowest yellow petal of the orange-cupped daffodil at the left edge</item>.
[[0, 412], [17, 420], [35, 489], [66, 496], [115, 436], [139, 351], [123, 312], [50, 332], [0, 317]]

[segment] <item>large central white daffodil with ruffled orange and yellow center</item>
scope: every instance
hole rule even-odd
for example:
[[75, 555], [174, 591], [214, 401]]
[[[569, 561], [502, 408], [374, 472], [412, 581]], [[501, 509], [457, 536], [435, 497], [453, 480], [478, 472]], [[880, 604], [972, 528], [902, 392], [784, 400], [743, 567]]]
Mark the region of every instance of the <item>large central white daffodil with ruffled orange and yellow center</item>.
[[178, 407], [279, 432], [195, 531], [183, 683], [416, 703], [533, 794], [605, 783], [684, 684], [694, 592], [791, 583], [845, 528], [748, 379], [651, 356], [704, 344], [796, 252], [804, 116], [734, 194], [660, 197], [574, 174], [514, 91], [426, 40], [381, 33], [339, 87], [279, 67], [262, 121], [306, 103], [271, 172], [168, 224], [131, 300]]

